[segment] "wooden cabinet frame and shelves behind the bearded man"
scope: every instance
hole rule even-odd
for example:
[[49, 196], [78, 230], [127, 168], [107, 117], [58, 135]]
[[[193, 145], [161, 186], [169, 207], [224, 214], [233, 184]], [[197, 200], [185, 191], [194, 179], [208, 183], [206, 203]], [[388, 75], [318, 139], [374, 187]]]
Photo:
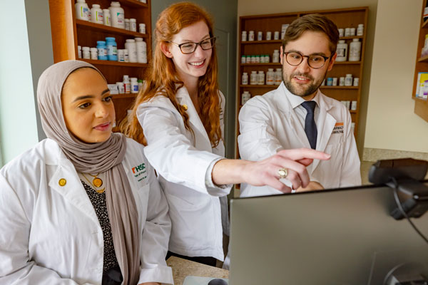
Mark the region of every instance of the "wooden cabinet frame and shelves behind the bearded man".
[[[248, 73], [250, 78], [251, 71], [264, 71], [267, 73], [268, 68], [281, 68], [280, 63], [272, 63], [272, 53], [275, 49], [280, 49], [282, 45], [281, 40], [274, 39], [274, 32], [279, 31], [281, 37], [282, 24], [290, 24], [292, 21], [305, 14], [323, 14], [331, 19], [337, 28], [355, 28], [359, 24], [364, 24], [364, 28], [367, 28], [367, 7], [350, 8], [350, 9], [334, 9], [334, 10], [322, 10], [322, 11], [305, 11], [296, 13], [285, 13], [285, 14], [269, 14], [269, 15], [254, 15], [254, 16], [241, 16], [239, 22], [239, 33], [240, 33], [240, 44], [239, 44], [239, 56], [238, 56], [238, 93], [237, 93], [237, 118], [240, 108], [242, 107], [241, 95], [244, 91], [249, 91], [251, 96], [263, 95], [270, 90], [277, 88], [272, 85], [243, 85], [242, 76], [243, 73]], [[254, 31], [255, 41], [242, 41], [242, 31]], [[263, 32], [263, 40], [257, 41], [258, 31]], [[267, 41], [265, 39], [267, 31], [272, 33], [272, 39]], [[350, 110], [352, 116], [352, 122], [355, 123], [355, 136], [358, 133], [358, 120], [360, 116], [360, 96], [362, 82], [362, 71], [365, 57], [365, 43], [366, 43], [366, 30], [364, 30], [362, 36], [343, 36], [340, 39], [345, 40], [348, 44], [348, 53], [350, 49], [350, 43], [353, 38], [359, 38], [362, 42], [361, 45], [361, 59], [360, 61], [342, 61], [336, 62], [332, 70], [327, 73], [326, 78], [332, 77], [337, 78], [337, 86], [321, 86], [322, 93], [337, 100], [349, 100], [357, 101], [357, 110]], [[357, 33], [355, 33], [357, 34]], [[251, 55], [269, 55], [269, 63], [241, 63], [241, 56]], [[353, 78], [360, 78], [358, 86], [339, 86], [339, 78], [345, 77], [346, 74], [352, 74]], [[248, 80], [250, 81], [250, 79]], [[248, 82], [250, 83], [250, 82]], [[239, 123], [237, 133], [239, 134]]]

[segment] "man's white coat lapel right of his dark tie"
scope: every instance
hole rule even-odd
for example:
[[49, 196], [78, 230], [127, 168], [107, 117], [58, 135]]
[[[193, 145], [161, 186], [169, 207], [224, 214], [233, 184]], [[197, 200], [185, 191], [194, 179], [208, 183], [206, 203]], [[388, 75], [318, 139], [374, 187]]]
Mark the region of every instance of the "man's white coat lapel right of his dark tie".
[[[319, 103], [320, 103], [320, 114], [317, 118], [317, 150], [324, 151], [327, 146], [328, 140], [330, 140], [330, 136], [332, 135], [333, 128], [335, 128], [336, 119], [333, 118], [328, 111], [332, 108], [324, 100], [324, 95], [322, 93], [319, 94]], [[312, 172], [317, 168], [317, 165], [320, 163], [320, 160], [314, 160], [312, 162]]]

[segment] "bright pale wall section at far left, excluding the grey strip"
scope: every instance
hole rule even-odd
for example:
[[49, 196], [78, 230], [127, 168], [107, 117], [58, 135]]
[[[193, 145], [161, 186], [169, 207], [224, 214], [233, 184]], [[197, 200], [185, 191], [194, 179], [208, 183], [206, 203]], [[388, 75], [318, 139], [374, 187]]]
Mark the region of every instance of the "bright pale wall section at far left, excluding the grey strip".
[[[0, 137], [6, 163], [38, 141], [24, 0], [4, 1], [0, 17]], [[21, 16], [16, 16], [21, 15]], [[7, 28], [6, 28], [7, 27]]]

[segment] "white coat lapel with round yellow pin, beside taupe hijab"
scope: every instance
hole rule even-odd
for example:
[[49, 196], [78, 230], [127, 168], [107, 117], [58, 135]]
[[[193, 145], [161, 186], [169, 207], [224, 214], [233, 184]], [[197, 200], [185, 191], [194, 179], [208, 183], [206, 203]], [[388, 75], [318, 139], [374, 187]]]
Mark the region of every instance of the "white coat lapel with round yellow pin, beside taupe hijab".
[[[63, 155], [61, 155], [63, 156]], [[58, 192], [66, 201], [73, 204], [77, 209], [90, 217], [93, 222], [99, 225], [98, 217], [96, 217], [95, 209], [85, 189], [81, 184], [81, 180], [71, 162], [66, 157], [59, 158], [54, 175], [49, 181], [49, 186]], [[60, 180], [66, 182], [65, 185], [60, 185]]]

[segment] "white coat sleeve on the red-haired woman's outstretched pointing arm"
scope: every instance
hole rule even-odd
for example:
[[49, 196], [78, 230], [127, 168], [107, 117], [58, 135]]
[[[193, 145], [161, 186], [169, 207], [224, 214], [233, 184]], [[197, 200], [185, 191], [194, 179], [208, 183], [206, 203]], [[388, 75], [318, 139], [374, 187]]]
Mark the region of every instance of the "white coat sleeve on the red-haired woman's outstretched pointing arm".
[[230, 187], [207, 187], [205, 174], [213, 160], [223, 158], [212, 152], [198, 150], [180, 131], [178, 120], [171, 110], [161, 107], [143, 107], [137, 112], [148, 145], [144, 154], [158, 174], [165, 180], [198, 192], [224, 196]]

